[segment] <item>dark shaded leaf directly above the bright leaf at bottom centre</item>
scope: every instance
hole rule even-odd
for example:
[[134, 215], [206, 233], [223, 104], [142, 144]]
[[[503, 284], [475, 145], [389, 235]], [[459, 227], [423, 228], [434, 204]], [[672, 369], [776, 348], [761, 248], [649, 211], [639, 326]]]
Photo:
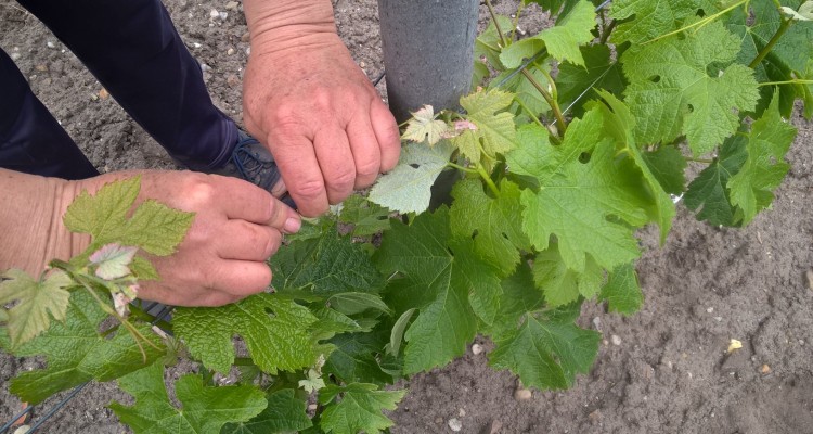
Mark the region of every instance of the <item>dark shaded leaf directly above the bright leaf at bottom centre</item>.
[[339, 334], [330, 343], [336, 349], [322, 368], [325, 373], [336, 375], [345, 383], [367, 381], [384, 384], [392, 381], [392, 376], [382, 371], [376, 359], [383, 345], [374, 333]]

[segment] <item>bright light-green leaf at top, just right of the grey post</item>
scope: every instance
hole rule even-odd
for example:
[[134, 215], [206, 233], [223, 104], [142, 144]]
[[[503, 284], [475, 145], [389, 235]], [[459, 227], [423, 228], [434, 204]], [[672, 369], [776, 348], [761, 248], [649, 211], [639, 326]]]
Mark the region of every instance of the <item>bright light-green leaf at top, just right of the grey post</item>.
[[542, 48], [559, 62], [568, 61], [584, 65], [579, 51], [593, 40], [593, 28], [596, 26], [595, 10], [590, 1], [579, 1], [567, 15], [557, 20], [554, 27], [544, 29], [537, 36], [521, 39], [503, 49], [500, 61], [508, 68], [518, 67], [524, 59], [530, 59]]

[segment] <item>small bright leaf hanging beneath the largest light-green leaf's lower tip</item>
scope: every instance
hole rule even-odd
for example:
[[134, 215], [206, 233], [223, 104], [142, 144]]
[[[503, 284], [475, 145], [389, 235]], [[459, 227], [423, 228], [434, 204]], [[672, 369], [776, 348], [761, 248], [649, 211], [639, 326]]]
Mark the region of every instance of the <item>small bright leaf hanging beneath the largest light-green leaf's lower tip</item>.
[[584, 271], [573, 271], [567, 268], [553, 244], [533, 259], [533, 281], [544, 292], [549, 306], [573, 303], [580, 295], [592, 298], [602, 288], [603, 280], [604, 270], [592, 258], [588, 258]]

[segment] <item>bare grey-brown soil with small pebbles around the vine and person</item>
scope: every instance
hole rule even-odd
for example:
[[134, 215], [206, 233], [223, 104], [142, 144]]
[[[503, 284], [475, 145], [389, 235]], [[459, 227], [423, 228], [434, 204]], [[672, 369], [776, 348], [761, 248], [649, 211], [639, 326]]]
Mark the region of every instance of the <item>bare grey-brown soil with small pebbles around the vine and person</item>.
[[[168, 8], [192, 53], [206, 65], [216, 104], [241, 120], [241, 78], [248, 43], [240, 10], [224, 0], [178, 0]], [[371, 78], [384, 68], [374, 0], [338, 0], [339, 31]], [[495, 1], [509, 14], [514, 0]], [[210, 17], [216, 9], [225, 20]], [[481, 8], [481, 26], [486, 23]], [[520, 27], [545, 22], [529, 8]], [[88, 25], [92, 25], [89, 23]], [[52, 42], [54, 48], [49, 48]], [[99, 82], [37, 20], [0, 0], [0, 48], [102, 171], [176, 166]], [[384, 86], [379, 85], [384, 92]], [[1, 93], [0, 93], [1, 94]], [[2, 103], [0, 101], [0, 103]], [[709, 227], [683, 209], [663, 247], [641, 234], [643, 310], [622, 318], [599, 306], [583, 327], [605, 334], [589, 375], [565, 392], [514, 397], [516, 380], [470, 350], [452, 365], [416, 375], [392, 414], [399, 434], [462, 433], [813, 433], [813, 125], [795, 118], [800, 133], [792, 165], [773, 209], [741, 230]], [[743, 348], [726, 353], [730, 340]], [[35, 361], [0, 356], [0, 383]], [[124, 394], [94, 384], [60, 411], [43, 432], [128, 432], [105, 408]], [[51, 399], [43, 405], [41, 414]], [[0, 387], [0, 422], [21, 403]]]

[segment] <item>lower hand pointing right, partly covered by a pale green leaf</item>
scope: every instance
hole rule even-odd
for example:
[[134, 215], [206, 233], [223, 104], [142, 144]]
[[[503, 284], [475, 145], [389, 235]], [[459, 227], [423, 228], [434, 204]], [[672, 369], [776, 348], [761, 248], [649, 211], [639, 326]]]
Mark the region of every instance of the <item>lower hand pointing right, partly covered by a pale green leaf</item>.
[[[235, 178], [191, 171], [140, 174], [139, 201], [153, 199], [195, 217], [178, 252], [150, 257], [160, 280], [140, 282], [139, 298], [175, 306], [221, 306], [269, 286], [266, 260], [280, 247], [282, 233], [299, 229], [296, 212]], [[127, 173], [111, 175], [122, 176]], [[78, 182], [109, 181], [101, 176]]]

